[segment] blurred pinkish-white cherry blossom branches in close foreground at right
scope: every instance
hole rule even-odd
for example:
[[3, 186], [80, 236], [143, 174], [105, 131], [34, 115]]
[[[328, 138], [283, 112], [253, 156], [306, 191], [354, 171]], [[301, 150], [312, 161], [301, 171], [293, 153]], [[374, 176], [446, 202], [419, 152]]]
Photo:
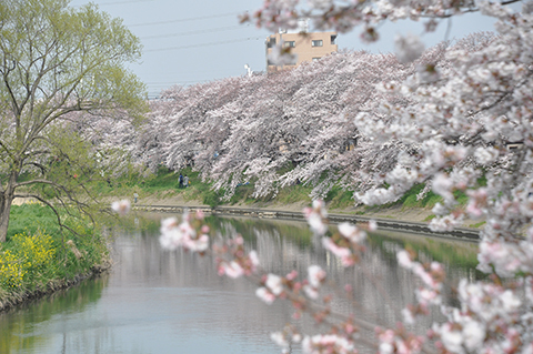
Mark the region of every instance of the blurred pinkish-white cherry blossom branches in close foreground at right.
[[[296, 1], [266, 1], [255, 18], [261, 26], [293, 27]], [[382, 186], [358, 194], [366, 204], [393, 201], [415, 183], [428, 183], [443, 198], [434, 208], [440, 215], [435, 231], [461, 224], [463, 215], [484, 218], [479, 269], [490, 282], [459, 286], [460, 306], [442, 306], [442, 267], [413, 262], [408, 252], [399, 262], [424, 282], [418, 303], [405, 309], [404, 321], [415, 321], [431, 305], [441, 305], [446, 320], [434, 324], [429, 338], [444, 353], [530, 353], [533, 351], [532, 215], [532, 4], [513, 12], [503, 3], [356, 2], [344, 7], [333, 1], [312, 1], [311, 17], [319, 26], [338, 30], [363, 24], [364, 37], [378, 38], [373, 23], [411, 16], [429, 17], [429, 28], [439, 18], [481, 11], [497, 19], [496, 37], [467, 39], [446, 50], [446, 65], [416, 62], [420, 41], [401, 38], [398, 59], [415, 61], [418, 70], [405, 80], [382, 82], [378, 89], [403, 97], [410, 104], [380, 101], [371, 111], [355, 115], [355, 125], [379, 144], [401, 141], [414, 150], [401, 151], [391, 171], [375, 175]], [[318, 11], [319, 14], [313, 14]], [[510, 144], [515, 149], [509, 149]], [[456, 192], [470, 198], [459, 206]], [[316, 215], [316, 216], [312, 216]], [[320, 205], [309, 213], [320, 229]], [[353, 226], [339, 227], [341, 236], [324, 239], [324, 246], [346, 265], [354, 262], [360, 233]], [[348, 241], [346, 241], [348, 239]], [[502, 281], [502, 277], [510, 277]], [[283, 283], [283, 282], [282, 282]], [[280, 293], [278, 290], [271, 293]], [[328, 335], [332, 335], [331, 333]], [[279, 336], [278, 336], [279, 338]], [[346, 342], [348, 341], [348, 342]], [[428, 341], [425, 341], [428, 343]], [[280, 344], [283, 342], [280, 340]], [[378, 331], [379, 351], [425, 352], [423, 340], [402, 328]], [[319, 336], [303, 347], [309, 353], [354, 352], [349, 336]]]

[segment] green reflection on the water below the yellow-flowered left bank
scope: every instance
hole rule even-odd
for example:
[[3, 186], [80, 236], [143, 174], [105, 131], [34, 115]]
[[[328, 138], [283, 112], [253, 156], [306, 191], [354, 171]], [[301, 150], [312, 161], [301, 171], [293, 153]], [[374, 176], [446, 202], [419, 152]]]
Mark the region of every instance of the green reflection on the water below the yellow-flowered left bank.
[[79, 313], [102, 296], [109, 274], [0, 313], [0, 353], [19, 353], [51, 341], [40, 326], [57, 314]]

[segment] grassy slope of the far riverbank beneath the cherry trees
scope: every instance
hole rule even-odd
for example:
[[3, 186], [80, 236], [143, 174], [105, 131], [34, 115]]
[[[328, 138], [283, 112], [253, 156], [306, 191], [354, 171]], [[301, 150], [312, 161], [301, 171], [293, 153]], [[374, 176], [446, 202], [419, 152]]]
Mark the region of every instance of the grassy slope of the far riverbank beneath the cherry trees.
[[[179, 186], [178, 176], [180, 173], [189, 176], [188, 188]], [[110, 183], [98, 182], [94, 188], [95, 192], [105, 199], [108, 204], [122, 199], [128, 199], [133, 203], [137, 195], [137, 205], [149, 208], [158, 205], [162, 209], [198, 206], [205, 210], [222, 210], [229, 208], [235, 211], [252, 210], [260, 212], [264, 210], [294, 214], [301, 213], [304, 206], [311, 204], [310, 195], [313, 191], [312, 185], [300, 183], [276, 191], [275, 196], [254, 198], [255, 188], [253, 182], [250, 182], [239, 185], [232, 196], [227, 200], [223, 198], [225, 194], [223, 190], [212, 190], [212, 182], [203, 181], [199, 172], [191, 168], [180, 171], [160, 168], [155, 173], [148, 176], [132, 173]], [[435, 218], [432, 209], [436, 203], [442, 203], [442, 198], [432, 191], [420, 198], [423, 188], [423, 184], [414, 185], [401, 199], [384, 206], [354, 206], [353, 192], [334, 185], [325, 195], [324, 202], [330, 214], [382, 219], [384, 221], [394, 220], [419, 223], [424, 226], [432, 218]], [[455, 194], [459, 205], [465, 205], [467, 196], [462, 192]], [[466, 219], [463, 226], [481, 230], [484, 221]]]

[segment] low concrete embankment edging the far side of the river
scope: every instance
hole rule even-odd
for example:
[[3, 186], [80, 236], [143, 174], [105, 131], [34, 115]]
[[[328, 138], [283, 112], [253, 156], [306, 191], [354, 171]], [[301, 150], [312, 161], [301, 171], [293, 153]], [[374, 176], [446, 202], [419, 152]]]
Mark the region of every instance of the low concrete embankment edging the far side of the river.
[[[271, 209], [247, 209], [247, 208], [232, 208], [232, 206], [217, 206], [209, 208], [205, 205], [134, 205], [134, 210], [147, 212], [161, 212], [161, 213], [183, 213], [183, 211], [202, 211], [212, 215], [239, 215], [249, 218], [262, 218], [262, 219], [284, 219], [284, 220], [304, 220], [303, 213], [293, 211], [271, 210]], [[449, 237], [455, 240], [464, 240], [476, 242], [480, 240], [480, 230], [471, 227], [456, 227], [449, 232], [433, 232], [428, 226], [428, 223], [401, 221], [383, 218], [370, 218], [362, 215], [350, 214], [334, 214], [328, 215], [330, 222], [341, 223], [351, 222], [360, 223], [374, 220], [378, 223], [378, 229], [383, 231], [394, 231], [404, 233], [415, 233], [420, 235], [428, 235], [434, 237]]]

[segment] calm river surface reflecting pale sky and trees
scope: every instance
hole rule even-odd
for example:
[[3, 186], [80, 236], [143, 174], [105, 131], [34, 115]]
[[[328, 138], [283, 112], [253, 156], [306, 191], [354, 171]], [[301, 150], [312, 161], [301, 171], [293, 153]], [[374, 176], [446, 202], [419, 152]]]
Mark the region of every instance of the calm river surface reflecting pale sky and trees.
[[[283, 302], [261, 302], [254, 295], [257, 286], [247, 280], [219, 276], [213, 260], [161, 250], [160, 218], [139, 216], [137, 229], [119, 232], [109, 274], [1, 313], [0, 353], [279, 353], [270, 333], [284, 324], [306, 333], [320, 330], [309, 318], [293, 320]], [[401, 247], [419, 251], [422, 260], [443, 262], [452, 285], [461, 277], [479, 276], [473, 271], [473, 243], [373, 234], [362, 265], [345, 271], [320, 247], [305, 223], [214, 216], [207, 221], [222, 234], [241, 233], [271, 272], [295, 269], [305, 276], [310, 264], [320, 264], [328, 272], [324, 294], [336, 294], [346, 283], [353, 286], [351, 297], [340, 292], [333, 310], [380, 324], [398, 321], [401, 309], [413, 300], [416, 281], [395, 261]], [[294, 347], [292, 353], [301, 351]]]

